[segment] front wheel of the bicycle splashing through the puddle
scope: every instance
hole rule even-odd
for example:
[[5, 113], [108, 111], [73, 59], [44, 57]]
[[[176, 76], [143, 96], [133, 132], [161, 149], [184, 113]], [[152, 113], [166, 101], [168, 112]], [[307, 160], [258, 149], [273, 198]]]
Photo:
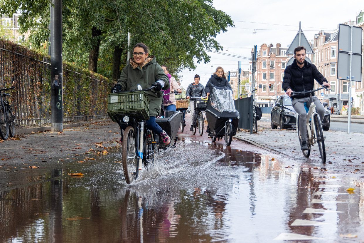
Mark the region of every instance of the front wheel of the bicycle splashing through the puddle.
[[125, 181], [127, 184], [132, 183], [138, 178], [138, 159], [137, 159], [137, 136], [134, 128], [128, 126], [124, 130], [123, 146], [122, 146], [122, 161]]

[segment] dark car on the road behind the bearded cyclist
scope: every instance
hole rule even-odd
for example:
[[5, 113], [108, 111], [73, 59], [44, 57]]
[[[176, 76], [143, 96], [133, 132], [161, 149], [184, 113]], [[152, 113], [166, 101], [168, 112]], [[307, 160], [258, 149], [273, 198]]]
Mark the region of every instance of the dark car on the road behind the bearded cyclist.
[[[324, 102], [324, 107], [325, 105], [327, 106], [326, 102]], [[270, 111], [270, 126], [272, 129], [277, 129], [278, 126], [280, 129], [296, 127], [297, 116], [296, 111], [292, 107], [291, 98], [288, 95], [281, 95], [273, 105], [272, 111]], [[327, 109], [325, 109], [322, 127], [325, 131], [328, 131], [330, 128], [330, 113]]]

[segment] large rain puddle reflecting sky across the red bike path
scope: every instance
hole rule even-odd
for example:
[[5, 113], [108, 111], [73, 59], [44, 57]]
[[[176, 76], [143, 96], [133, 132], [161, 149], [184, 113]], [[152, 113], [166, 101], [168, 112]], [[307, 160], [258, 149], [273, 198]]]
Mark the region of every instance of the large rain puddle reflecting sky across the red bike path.
[[1, 240], [364, 239], [364, 195], [349, 177], [238, 147], [186, 138], [131, 185], [124, 183], [118, 153], [92, 162], [83, 177], [53, 170], [42, 183], [0, 192]]

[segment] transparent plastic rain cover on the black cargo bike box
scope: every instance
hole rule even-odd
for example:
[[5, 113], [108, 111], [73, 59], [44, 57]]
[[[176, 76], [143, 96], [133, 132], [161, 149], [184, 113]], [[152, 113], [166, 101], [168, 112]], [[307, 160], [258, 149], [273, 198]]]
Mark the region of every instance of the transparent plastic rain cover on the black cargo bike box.
[[220, 112], [233, 111], [235, 112], [234, 98], [230, 89], [216, 89], [212, 88], [210, 98], [211, 107]]

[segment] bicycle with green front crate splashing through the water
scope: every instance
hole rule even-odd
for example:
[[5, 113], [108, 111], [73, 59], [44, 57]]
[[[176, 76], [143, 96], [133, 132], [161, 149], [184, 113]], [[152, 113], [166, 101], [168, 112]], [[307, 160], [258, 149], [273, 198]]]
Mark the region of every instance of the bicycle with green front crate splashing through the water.
[[[136, 180], [142, 167], [153, 165], [160, 148], [165, 148], [161, 139], [146, 127], [149, 119], [149, 98], [138, 85], [138, 91], [122, 91], [108, 95], [107, 114], [118, 123], [123, 137], [122, 164], [127, 184]], [[166, 117], [156, 118], [156, 122], [165, 132], [177, 141], [180, 112], [167, 112]], [[123, 132], [124, 130], [124, 132]], [[172, 141], [171, 141], [172, 144]], [[167, 145], [170, 146], [170, 145]]]

